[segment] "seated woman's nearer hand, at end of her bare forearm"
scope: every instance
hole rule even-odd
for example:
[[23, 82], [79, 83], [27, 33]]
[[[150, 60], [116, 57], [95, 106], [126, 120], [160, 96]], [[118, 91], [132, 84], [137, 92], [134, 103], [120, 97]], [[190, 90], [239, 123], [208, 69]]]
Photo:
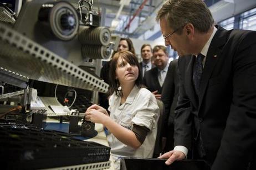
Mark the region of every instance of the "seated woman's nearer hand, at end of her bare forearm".
[[93, 123], [105, 124], [109, 119], [109, 115], [106, 115], [99, 110], [90, 109], [85, 112], [85, 120]]

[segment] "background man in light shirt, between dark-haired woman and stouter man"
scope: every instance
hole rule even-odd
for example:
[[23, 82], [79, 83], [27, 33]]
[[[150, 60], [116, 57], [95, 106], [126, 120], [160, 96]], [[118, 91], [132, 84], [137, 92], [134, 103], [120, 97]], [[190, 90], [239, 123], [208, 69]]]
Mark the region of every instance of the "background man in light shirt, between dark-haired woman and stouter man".
[[152, 59], [152, 48], [150, 44], [144, 44], [141, 46], [141, 57], [142, 61], [140, 62], [140, 74], [141, 78], [144, 77], [145, 72], [151, 70], [151, 68], [155, 67], [155, 65], [152, 65], [151, 59]]

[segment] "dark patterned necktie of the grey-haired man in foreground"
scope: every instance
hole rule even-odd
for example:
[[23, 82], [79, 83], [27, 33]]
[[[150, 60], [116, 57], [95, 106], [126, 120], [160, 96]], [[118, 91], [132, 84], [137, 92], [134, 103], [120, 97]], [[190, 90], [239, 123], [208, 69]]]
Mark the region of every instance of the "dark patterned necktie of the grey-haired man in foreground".
[[193, 83], [194, 83], [194, 89], [196, 90], [197, 95], [199, 94], [200, 80], [203, 73], [203, 58], [204, 58], [204, 55], [202, 55], [201, 53], [198, 54], [196, 57], [196, 63], [194, 63], [194, 68], [193, 68]]

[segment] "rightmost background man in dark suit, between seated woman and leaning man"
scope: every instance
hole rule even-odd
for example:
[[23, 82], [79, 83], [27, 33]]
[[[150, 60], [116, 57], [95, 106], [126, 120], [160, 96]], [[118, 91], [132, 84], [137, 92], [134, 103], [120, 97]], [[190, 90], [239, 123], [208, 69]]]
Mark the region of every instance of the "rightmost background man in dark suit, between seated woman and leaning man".
[[156, 45], [153, 47], [153, 58], [155, 61], [155, 68], [145, 72], [142, 83], [155, 94], [157, 99], [161, 99], [162, 84], [165, 81], [168, 70], [168, 53], [166, 47], [163, 45]]

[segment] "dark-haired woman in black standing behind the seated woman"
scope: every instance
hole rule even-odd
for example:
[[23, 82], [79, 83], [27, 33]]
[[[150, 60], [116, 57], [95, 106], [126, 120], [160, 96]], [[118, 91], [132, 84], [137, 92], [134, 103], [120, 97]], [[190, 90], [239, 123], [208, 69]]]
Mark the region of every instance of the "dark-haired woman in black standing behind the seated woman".
[[[132, 54], [135, 55], [134, 45], [132, 44], [132, 41], [129, 38], [121, 38], [120, 39], [117, 51], [121, 51], [121, 50], [130, 51], [130, 52], [132, 52]], [[112, 56], [114, 56], [114, 54], [117, 51], [114, 51]], [[106, 62], [100, 71], [100, 78], [102, 78], [104, 80], [104, 82], [107, 84], [109, 84], [110, 61]], [[108, 99], [109, 95], [110, 95], [110, 93], [107, 93], [107, 94], [99, 93], [99, 104], [101, 105], [101, 107], [103, 107], [105, 109], [109, 108], [109, 99]]]

